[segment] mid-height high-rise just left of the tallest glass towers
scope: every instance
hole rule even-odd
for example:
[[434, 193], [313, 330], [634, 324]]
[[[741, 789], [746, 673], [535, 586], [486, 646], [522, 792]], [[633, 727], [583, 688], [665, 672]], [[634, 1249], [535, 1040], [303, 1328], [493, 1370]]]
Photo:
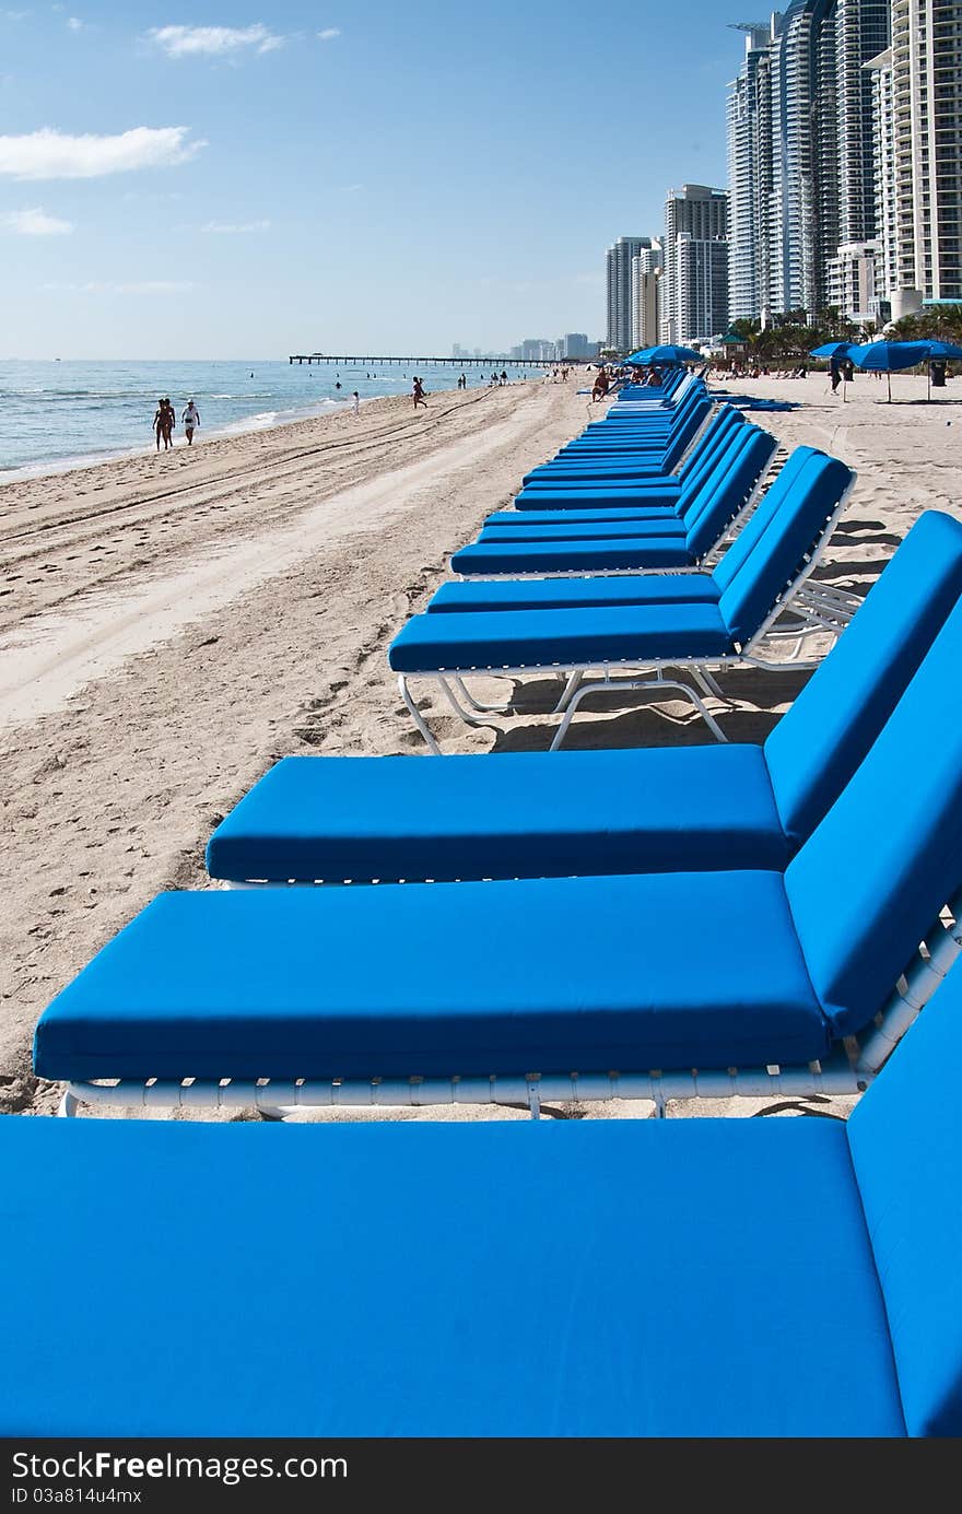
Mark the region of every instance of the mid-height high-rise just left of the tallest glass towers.
[[664, 342], [692, 342], [729, 326], [729, 197], [682, 185], [665, 200]]

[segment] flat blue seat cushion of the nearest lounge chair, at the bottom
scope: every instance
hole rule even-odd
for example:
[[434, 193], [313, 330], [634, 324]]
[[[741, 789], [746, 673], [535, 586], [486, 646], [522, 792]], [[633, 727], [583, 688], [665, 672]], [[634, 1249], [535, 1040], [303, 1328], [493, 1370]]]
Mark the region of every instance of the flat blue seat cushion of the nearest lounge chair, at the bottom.
[[903, 1434], [835, 1123], [8, 1117], [0, 1167], [8, 1437]]

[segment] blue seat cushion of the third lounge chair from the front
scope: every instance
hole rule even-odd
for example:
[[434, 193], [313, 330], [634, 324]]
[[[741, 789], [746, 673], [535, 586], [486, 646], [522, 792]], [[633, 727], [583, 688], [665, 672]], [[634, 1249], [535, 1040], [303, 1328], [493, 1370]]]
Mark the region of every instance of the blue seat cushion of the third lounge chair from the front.
[[218, 825], [214, 878], [533, 878], [780, 869], [757, 746], [285, 757]]

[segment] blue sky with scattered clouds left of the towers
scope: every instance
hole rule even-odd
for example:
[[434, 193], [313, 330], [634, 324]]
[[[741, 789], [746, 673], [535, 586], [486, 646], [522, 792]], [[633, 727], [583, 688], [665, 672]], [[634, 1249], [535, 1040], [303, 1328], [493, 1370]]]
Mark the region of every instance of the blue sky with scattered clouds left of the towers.
[[724, 183], [729, 15], [0, 0], [0, 357], [600, 336], [607, 244]]

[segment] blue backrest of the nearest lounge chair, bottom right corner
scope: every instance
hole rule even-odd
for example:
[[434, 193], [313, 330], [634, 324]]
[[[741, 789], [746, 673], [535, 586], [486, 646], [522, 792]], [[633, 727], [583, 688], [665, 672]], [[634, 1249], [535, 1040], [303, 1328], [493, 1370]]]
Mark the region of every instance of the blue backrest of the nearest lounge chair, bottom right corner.
[[962, 1435], [962, 961], [848, 1119], [909, 1435]]

